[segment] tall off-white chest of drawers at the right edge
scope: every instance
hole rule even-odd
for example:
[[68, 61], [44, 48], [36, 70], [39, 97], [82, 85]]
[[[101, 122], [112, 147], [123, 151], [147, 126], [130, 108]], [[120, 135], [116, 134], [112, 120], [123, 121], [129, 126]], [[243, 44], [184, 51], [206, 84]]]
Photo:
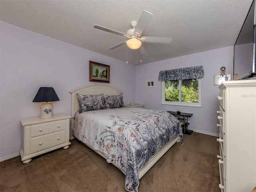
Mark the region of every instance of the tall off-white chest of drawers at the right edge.
[[256, 80], [220, 85], [220, 189], [252, 192], [256, 186]]

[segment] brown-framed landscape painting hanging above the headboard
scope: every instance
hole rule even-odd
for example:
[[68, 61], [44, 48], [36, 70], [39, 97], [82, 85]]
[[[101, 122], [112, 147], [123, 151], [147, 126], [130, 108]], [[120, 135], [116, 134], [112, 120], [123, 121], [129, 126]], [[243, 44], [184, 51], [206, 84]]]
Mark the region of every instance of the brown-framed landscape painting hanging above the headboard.
[[110, 83], [110, 66], [89, 61], [89, 81]]

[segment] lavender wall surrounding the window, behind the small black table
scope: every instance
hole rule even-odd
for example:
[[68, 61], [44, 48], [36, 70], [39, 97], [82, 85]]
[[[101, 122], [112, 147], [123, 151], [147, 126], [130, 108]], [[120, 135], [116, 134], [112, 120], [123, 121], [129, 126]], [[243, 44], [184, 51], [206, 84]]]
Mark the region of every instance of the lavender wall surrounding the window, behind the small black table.
[[[220, 48], [216, 50], [201, 52], [182, 56], [178, 58], [163, 60], [150, 64], [136, 66], [136, 102], [144, 104], [145, 108], [164, 111], [181, 111], [192, 113], [189, 118], [189, 129], [197, 132], [218, 135], [217, 113], [218, 86], [213, 84], [214, 74], [220, 74], [220, 67], [226, 67], [226, 73], [233, 73], [234, 47]], [[185, 107], [161, 105], [161, 82], [158, 74], [161, 70], [184, 68], [190, 66], [204, 67], [204, 78], [202, 78], [202, 107]], [[155, 88], [146, 88], [146, 82], [154, 80]]]

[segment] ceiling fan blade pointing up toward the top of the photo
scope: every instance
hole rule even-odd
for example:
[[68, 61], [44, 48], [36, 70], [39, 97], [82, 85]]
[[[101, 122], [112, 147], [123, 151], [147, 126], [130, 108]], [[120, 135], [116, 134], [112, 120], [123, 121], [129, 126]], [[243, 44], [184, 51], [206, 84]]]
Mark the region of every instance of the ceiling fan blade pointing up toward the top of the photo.
[[150, 20], [152, 19], [153, 14], [148, 11], [143, 11], [142, 15], [140, 16], [140, 20], [138, 21], [138, 24], [134, 30], [134, 34], [136, 36], [141, 36], [144, 29], [148, 26]]

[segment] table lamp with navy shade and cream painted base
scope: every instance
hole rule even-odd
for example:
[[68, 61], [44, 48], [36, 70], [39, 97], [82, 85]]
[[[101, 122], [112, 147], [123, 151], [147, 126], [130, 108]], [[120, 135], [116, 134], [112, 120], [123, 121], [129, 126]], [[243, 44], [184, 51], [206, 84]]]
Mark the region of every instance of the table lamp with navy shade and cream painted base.
[[33, 102], [42, 102], [40, 106], [40, 118], [50, 118], [53, 116], [52, 101], [59, 101], [56, 92], [52, 87], [40, 87]]

